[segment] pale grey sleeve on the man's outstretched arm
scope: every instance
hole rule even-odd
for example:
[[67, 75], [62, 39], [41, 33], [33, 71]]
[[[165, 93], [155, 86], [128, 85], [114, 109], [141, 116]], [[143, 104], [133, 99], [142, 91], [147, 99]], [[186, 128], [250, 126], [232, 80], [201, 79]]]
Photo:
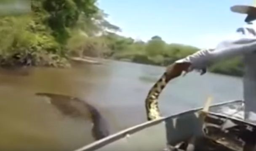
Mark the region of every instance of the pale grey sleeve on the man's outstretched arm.
[[229, 59], [235, 56], [242, 56], [253, 53], [256, 50], [255, 37], [242, 37], [235, 40], [225, 40], [219, 43], [215, 49], [202, 49], [187, 56], [179, 62], [190, 62], [193, 69], [203, 69], [210, 64]]

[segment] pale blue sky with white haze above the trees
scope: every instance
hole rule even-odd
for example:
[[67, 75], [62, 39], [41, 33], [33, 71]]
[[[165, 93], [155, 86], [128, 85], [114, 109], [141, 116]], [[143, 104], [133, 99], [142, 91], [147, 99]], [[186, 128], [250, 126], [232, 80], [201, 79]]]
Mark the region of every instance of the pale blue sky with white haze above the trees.
[[98, 0], [123, 36], [147, 41], [158, 35], [167, 43], [198, 48], [215, 47], [245, 24], [246, 15], [230, 11], [233, 5], [253, 5], [253, 0]]

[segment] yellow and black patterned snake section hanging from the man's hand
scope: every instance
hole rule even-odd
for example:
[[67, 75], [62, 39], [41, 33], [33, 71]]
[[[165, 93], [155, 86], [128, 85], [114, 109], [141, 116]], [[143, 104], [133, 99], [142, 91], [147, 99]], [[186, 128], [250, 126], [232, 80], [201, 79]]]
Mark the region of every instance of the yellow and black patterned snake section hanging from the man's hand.
[[147, 120], [155, 120], [161, 117], [159, 106], [158, 106], [158, 98], [160, 93], [163, 91], [167, 83], [170, 79], [167, 78], [167, 72], [165, 72], [160, 79], [153, 85], [153, 87], [149, 90], [147, 95], [145, 105], [146, 105], [146, 114]]

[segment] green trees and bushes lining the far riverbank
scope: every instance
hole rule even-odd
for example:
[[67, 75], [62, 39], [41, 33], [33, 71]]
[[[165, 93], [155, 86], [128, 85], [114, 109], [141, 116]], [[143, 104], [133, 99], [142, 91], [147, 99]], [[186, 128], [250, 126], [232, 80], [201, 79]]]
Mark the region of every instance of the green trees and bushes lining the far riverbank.
[[[168, 66], [199, 48], [166, 43], [159, 36], [144, 42], [119, 34], [97, 0], [31, 0], [31, 13], [0, 16], [0, 66], [69, 67], [71, 61], [100, 64], [92, 58]], [[208, 72], [243, 75], [240, 58], [222, 61]]]

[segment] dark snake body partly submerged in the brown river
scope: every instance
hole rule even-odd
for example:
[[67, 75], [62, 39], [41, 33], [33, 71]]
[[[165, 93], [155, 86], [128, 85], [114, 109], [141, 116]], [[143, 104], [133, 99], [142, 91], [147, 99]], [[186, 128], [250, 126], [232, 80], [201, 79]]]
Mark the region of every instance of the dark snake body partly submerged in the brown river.
[[109, 135], [109, 126], [107, 120], [101, 113], [88, 102], [76, 97], [71, 97], [53, 93], [36, 93], [39, 96], [51, 98], [51, 104], [56, 106], [62, 114], [69, 117], [87, 117], [86, 110], [90, 112], [93, 122], [92, 134], [96, 140], [107, 137]]

